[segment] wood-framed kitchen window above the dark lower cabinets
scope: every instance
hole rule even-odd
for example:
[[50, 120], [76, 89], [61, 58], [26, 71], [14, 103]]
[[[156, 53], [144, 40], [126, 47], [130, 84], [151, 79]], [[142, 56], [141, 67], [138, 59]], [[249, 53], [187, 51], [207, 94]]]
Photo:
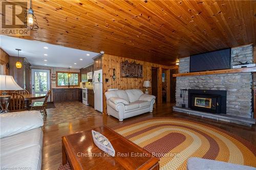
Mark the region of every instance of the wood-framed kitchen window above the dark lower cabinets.
[[79, 72], [56, 72], [56, 86], [79, 86]]

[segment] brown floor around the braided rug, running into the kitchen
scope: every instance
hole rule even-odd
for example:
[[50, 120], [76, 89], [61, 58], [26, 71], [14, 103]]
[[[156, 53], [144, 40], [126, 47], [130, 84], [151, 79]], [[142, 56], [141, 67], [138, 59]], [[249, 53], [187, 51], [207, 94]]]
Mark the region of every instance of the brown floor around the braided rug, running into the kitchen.
[[61, 164], [61, 136], [103, 125], [113, 127], [126, 122], [132, 122], [138, 118], [146, 117], [170, 116], [188, 118], [190, 120], [219, 127], [241, 136], [256, 145], [256, 126], [246, 127], [173, 112], [172, 106], [173, 105], [169, 103], [159, 104], [153, 113], [145, 113], [119, 122], [118, 119], [112, 116], [102, 115], [101, 113], [94, 111], [92, 107], [85, 106], [80, 102], [55, 103], [56, 108], [47, 109], [48, 115], [45, 120], [45, 125], [42, 127], [42, 130], [44, 131], [42, 169], [57, 169], [59, 164]]

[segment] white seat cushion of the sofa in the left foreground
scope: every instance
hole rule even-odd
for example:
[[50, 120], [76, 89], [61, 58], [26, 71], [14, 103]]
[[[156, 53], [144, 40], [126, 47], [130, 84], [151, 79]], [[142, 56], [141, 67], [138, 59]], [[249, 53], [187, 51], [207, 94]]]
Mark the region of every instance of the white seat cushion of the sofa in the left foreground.
[[40, 145], [40, 148], [42, 148], [42, 137], [43, 133], [41, 128], [36, 128], [23, 133], [1, 138], [1, 157], [33, 145]]

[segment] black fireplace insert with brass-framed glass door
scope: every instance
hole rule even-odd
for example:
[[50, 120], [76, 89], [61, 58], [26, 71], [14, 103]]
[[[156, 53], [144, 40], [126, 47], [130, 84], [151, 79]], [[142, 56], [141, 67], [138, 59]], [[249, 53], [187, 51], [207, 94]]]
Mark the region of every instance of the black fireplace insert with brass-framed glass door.
[[188, 108], [226, 114], [226, 90], [188, 90]]

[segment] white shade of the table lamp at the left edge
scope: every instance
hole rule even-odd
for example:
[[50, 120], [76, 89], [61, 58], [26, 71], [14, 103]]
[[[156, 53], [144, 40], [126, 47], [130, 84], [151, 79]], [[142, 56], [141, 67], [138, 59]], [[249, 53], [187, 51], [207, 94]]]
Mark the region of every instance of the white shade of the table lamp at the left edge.
[[23, 90], [12, 76], [0, 75], [0, 90]]

